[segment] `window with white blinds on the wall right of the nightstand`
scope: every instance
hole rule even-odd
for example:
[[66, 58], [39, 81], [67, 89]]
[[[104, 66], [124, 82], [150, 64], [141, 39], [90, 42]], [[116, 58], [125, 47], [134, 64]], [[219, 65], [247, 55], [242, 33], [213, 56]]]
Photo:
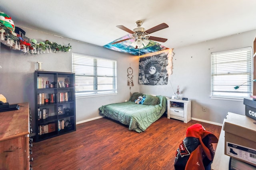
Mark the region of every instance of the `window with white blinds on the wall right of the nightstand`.
[[213, 97], [252, 95], [252, 47], [211, 53], [211, 70]]

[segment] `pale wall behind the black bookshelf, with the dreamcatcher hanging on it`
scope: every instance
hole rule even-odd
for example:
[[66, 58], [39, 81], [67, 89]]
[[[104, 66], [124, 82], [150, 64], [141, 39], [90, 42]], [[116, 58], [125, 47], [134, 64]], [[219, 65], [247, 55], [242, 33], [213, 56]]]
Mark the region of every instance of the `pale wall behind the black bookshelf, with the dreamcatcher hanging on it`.
[[[37, 61], [42, 62], [42, 68], [46, 71], [72, 72], [72, 52], [92, 55], [117, 61], [117, 88], [118, 94], [104, 97], [76, 99], [76, 121], [86, 121], [99, 117], [98, 108], [105, 104], [124, 102], [130, 98], [129, 86], [127, 86], [127, 68], [131, 66], [134, 72], [138, 72], [138, 57], [119, 53], [103, 47], [81, 43], [78, 41], [56, 37], [47, 33], [23, 28], [26, 36], [34, 38], [38, 42], [54, 41], [61, 45], [72, 45], [69, 53], [45, 53], [40, 55], [24, 54], [1, 44], [0, 48], [0, 94], [3, 94], [10, 104], [29, 102], [34, 117], [34, 71], [38, 68]], [[134, 74], [134, 86], [132, 92], [138, 92], [138, 75]], [[32, 122], [33, 127], [35, 122]], [[35, 127], [34, 127], [35, 128]]]

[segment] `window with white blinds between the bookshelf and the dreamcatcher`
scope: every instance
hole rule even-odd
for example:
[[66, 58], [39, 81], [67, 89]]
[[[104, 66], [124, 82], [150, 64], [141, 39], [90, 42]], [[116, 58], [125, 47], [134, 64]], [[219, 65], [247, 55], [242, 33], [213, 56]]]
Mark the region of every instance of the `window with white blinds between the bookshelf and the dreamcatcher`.
[[72, 53], [76, 96], [117, 93], [116, 61]]

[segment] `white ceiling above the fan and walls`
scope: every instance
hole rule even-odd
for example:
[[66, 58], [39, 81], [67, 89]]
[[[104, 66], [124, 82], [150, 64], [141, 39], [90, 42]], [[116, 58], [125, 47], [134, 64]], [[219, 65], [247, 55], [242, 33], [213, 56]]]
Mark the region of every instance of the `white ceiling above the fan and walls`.
[[0, 0], [0, 11], [16, 26], [98, 46], [128, 34], [116, 25], [132, 30], [137, 20], [145, 29], [167, 23], [151, 35], [168, 48], [256, 29], [256, 0]]

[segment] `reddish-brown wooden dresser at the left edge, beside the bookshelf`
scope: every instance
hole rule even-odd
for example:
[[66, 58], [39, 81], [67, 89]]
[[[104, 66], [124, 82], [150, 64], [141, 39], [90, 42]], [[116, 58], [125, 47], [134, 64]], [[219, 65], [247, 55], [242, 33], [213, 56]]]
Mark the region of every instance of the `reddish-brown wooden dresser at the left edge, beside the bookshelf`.
[[29, 104], [19, 110], [0, 112], [0, 170], [30, 169]]

